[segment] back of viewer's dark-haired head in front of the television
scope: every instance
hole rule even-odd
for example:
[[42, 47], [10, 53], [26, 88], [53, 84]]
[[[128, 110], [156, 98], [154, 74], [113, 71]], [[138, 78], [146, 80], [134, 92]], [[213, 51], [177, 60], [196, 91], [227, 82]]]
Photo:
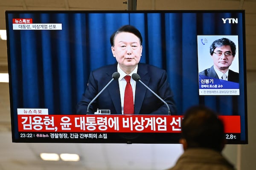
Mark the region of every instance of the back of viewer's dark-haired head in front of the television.
[[224, 142], [224, 125], [217, 114], [205, 106], [189, 108], [181, 124], [187, 148], [203, 147], [221, 151]]

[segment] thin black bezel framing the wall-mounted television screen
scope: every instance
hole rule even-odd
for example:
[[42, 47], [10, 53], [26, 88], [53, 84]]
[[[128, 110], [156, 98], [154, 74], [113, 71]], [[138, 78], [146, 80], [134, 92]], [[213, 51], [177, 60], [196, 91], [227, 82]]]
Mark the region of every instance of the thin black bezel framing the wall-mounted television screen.
[[[113, 137], [111, 140], [76, 140], [71, 141], [70, 139], [46, 139], [46, 140], [30, 140], [30, 139], [16, 139], [14, 133], [16, 132], [14, 128], [14, 112], [12, 107], [12, 74], [11, 74], [11, 64], [10, 64], [10, 47], [9, 47], [9, 24], [8, 24], [8, 14], [41, 14], [41, 13], [242, 13], [243, 17], [243, 41], [245, 42], [245, 11], [244, 10], [136, 10], [136, 11], [123, 11], [123, 10], [98, 10], [98, 11], [6, 11], [6, 31], [7, 31], [7, 54], [8, 54], [8, 70], [9, 70], [9, 93], [10, 93], [10, 109], [11, 109], [11, 123], [12, 123], [12, 142], [36, 142], [36, 143], [152, 143], [152, 144], [175, 144], [179, 143], [180, 133], [110, 133]], [[246, 56], [245, 44], [243, 46], [243, 54]], [[245, 140], [244, 141], [228, 141], [228, 144], [248, 144], [248, 132], [247, 132], [247, 82], [246, 82], [246, 57], [243, 58], [243, 73], [244, 73], [244, 118], [245, 118]], [[16, 132], [17, 133], [17, 132]], [[134, 139], [134, 136], [140, 136]], [[151, 139], [152, 136], [160, 137], [160, 139]]]

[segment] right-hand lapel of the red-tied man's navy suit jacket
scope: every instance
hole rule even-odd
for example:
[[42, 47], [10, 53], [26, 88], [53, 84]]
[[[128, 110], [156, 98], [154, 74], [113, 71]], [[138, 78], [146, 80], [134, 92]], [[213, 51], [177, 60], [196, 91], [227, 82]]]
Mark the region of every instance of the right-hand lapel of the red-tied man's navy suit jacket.
[[[140, 80], [148, 85], [150, 76], [148, 75], [148, 68], [145, 65], [138, 65], [137, 73], [140, 75]], [[134, 113], [139, 114], [141, 106], [144, 101], [147, 88], [142, 85], [139, 81], [136, 82], [136, 91], [135, 91], [135, 102], [134, 102]]]

